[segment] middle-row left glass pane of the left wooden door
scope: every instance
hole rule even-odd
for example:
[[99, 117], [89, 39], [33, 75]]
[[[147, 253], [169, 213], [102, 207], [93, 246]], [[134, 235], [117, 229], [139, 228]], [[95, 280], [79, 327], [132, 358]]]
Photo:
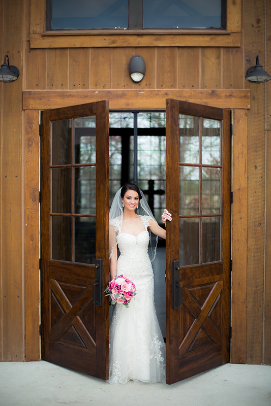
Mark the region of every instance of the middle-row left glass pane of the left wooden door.
[[72, 193], [70, 167], [51, 168], [51, 213], [71, 213]]

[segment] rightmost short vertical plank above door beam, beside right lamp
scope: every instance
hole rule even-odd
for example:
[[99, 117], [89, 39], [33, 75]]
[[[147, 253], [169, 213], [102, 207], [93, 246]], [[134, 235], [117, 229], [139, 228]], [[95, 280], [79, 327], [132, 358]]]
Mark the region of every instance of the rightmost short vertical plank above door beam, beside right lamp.
[[223, 48], [223, 89], [243, 89], [244, 65], [242, 48]]

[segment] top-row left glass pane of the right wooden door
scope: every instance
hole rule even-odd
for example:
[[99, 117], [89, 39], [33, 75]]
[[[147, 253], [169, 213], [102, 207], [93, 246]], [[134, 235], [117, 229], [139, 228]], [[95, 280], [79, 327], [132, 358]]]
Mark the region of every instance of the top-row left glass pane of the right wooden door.
[[200, 118], [179, 114], [179, 161], [199, 163]]

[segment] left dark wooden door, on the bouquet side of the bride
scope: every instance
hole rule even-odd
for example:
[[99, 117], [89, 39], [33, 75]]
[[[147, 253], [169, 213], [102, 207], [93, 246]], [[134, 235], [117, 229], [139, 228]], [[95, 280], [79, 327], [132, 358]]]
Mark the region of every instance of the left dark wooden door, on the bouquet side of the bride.
[[[43, 112], [41, 140], [42, 358], [102, 379], [108, 378], [109, 312], [108, 301], [100, 306], [94, 298], [94, 285], [102, 264], [102, 291], [108, 283], [108, 113], [106, 101]], [[82, 153], [80, 137], [88, 143]], [[86, 181], [92, 186], [82, 189]], [[80, 251], [84, 240], [91, 255], [87, 246]]]

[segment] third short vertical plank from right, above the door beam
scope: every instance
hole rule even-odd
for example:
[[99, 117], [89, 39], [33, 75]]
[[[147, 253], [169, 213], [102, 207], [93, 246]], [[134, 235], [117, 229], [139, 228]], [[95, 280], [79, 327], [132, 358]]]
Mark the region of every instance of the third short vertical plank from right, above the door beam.
[[178, 89], [199, 89], [200, 48], [178, 48]]

